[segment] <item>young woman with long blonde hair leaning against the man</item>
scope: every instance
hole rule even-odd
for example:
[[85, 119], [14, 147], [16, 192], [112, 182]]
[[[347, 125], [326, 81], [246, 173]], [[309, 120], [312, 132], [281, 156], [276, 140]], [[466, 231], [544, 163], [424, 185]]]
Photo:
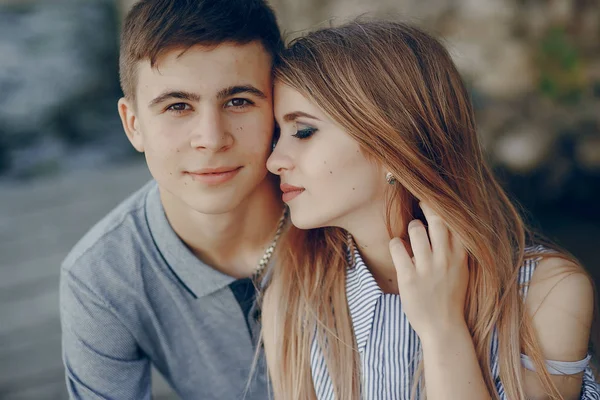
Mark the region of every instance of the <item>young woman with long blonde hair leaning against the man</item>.
[[276, 399], [600, 398], [591, 280], [532, 246], [438, 41], [384, 21], [308, 34], [275, 114], [268, 168], [303, 229], [264, 295]]

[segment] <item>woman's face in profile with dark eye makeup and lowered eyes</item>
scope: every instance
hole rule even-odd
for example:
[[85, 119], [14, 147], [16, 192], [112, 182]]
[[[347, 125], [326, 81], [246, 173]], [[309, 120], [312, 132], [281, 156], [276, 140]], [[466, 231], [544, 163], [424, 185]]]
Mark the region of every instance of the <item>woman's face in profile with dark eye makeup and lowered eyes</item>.
[[276, 82], [274, 96], [281, 134], [267, 168], [281, 177], [294, 225], [351, 229], [381, 214], [385, 171], [300, 92]]

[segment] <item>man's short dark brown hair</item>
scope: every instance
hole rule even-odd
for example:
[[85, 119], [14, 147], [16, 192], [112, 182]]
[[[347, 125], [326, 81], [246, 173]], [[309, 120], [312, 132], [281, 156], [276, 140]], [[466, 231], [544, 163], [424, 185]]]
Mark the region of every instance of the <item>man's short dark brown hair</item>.
[[152, 67], [167, 51], [225, 42], [262, 43], [275, 60], [283, 46], [277, 20], [264, 0], [141, 0], [127, 14], [119, 73], [123, 94], [135, 99], [137, 63]]

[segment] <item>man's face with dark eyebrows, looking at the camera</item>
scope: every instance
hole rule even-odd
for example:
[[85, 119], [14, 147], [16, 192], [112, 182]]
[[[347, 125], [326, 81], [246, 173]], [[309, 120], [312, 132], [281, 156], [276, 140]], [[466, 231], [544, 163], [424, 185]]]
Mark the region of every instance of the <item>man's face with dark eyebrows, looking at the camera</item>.
[[173, 50], [155, 68], [140, 62], [136, 103], [122, 99], [119, 111], [163, 201], [224, 213], [265, 179], [271, 58], [259, 43]]

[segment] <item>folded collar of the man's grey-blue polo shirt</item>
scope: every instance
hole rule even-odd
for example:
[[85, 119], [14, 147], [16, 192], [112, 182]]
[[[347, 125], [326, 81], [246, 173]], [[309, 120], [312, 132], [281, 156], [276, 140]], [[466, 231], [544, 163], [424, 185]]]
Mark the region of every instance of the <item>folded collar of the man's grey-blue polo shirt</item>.
[[176, 279], [195, 298], [207, 296], [231, 284], [235, 278], [203, 263], [177, 236], [167, 220], [158, 185], [146, 197], [146, 220], [154, 245]]

